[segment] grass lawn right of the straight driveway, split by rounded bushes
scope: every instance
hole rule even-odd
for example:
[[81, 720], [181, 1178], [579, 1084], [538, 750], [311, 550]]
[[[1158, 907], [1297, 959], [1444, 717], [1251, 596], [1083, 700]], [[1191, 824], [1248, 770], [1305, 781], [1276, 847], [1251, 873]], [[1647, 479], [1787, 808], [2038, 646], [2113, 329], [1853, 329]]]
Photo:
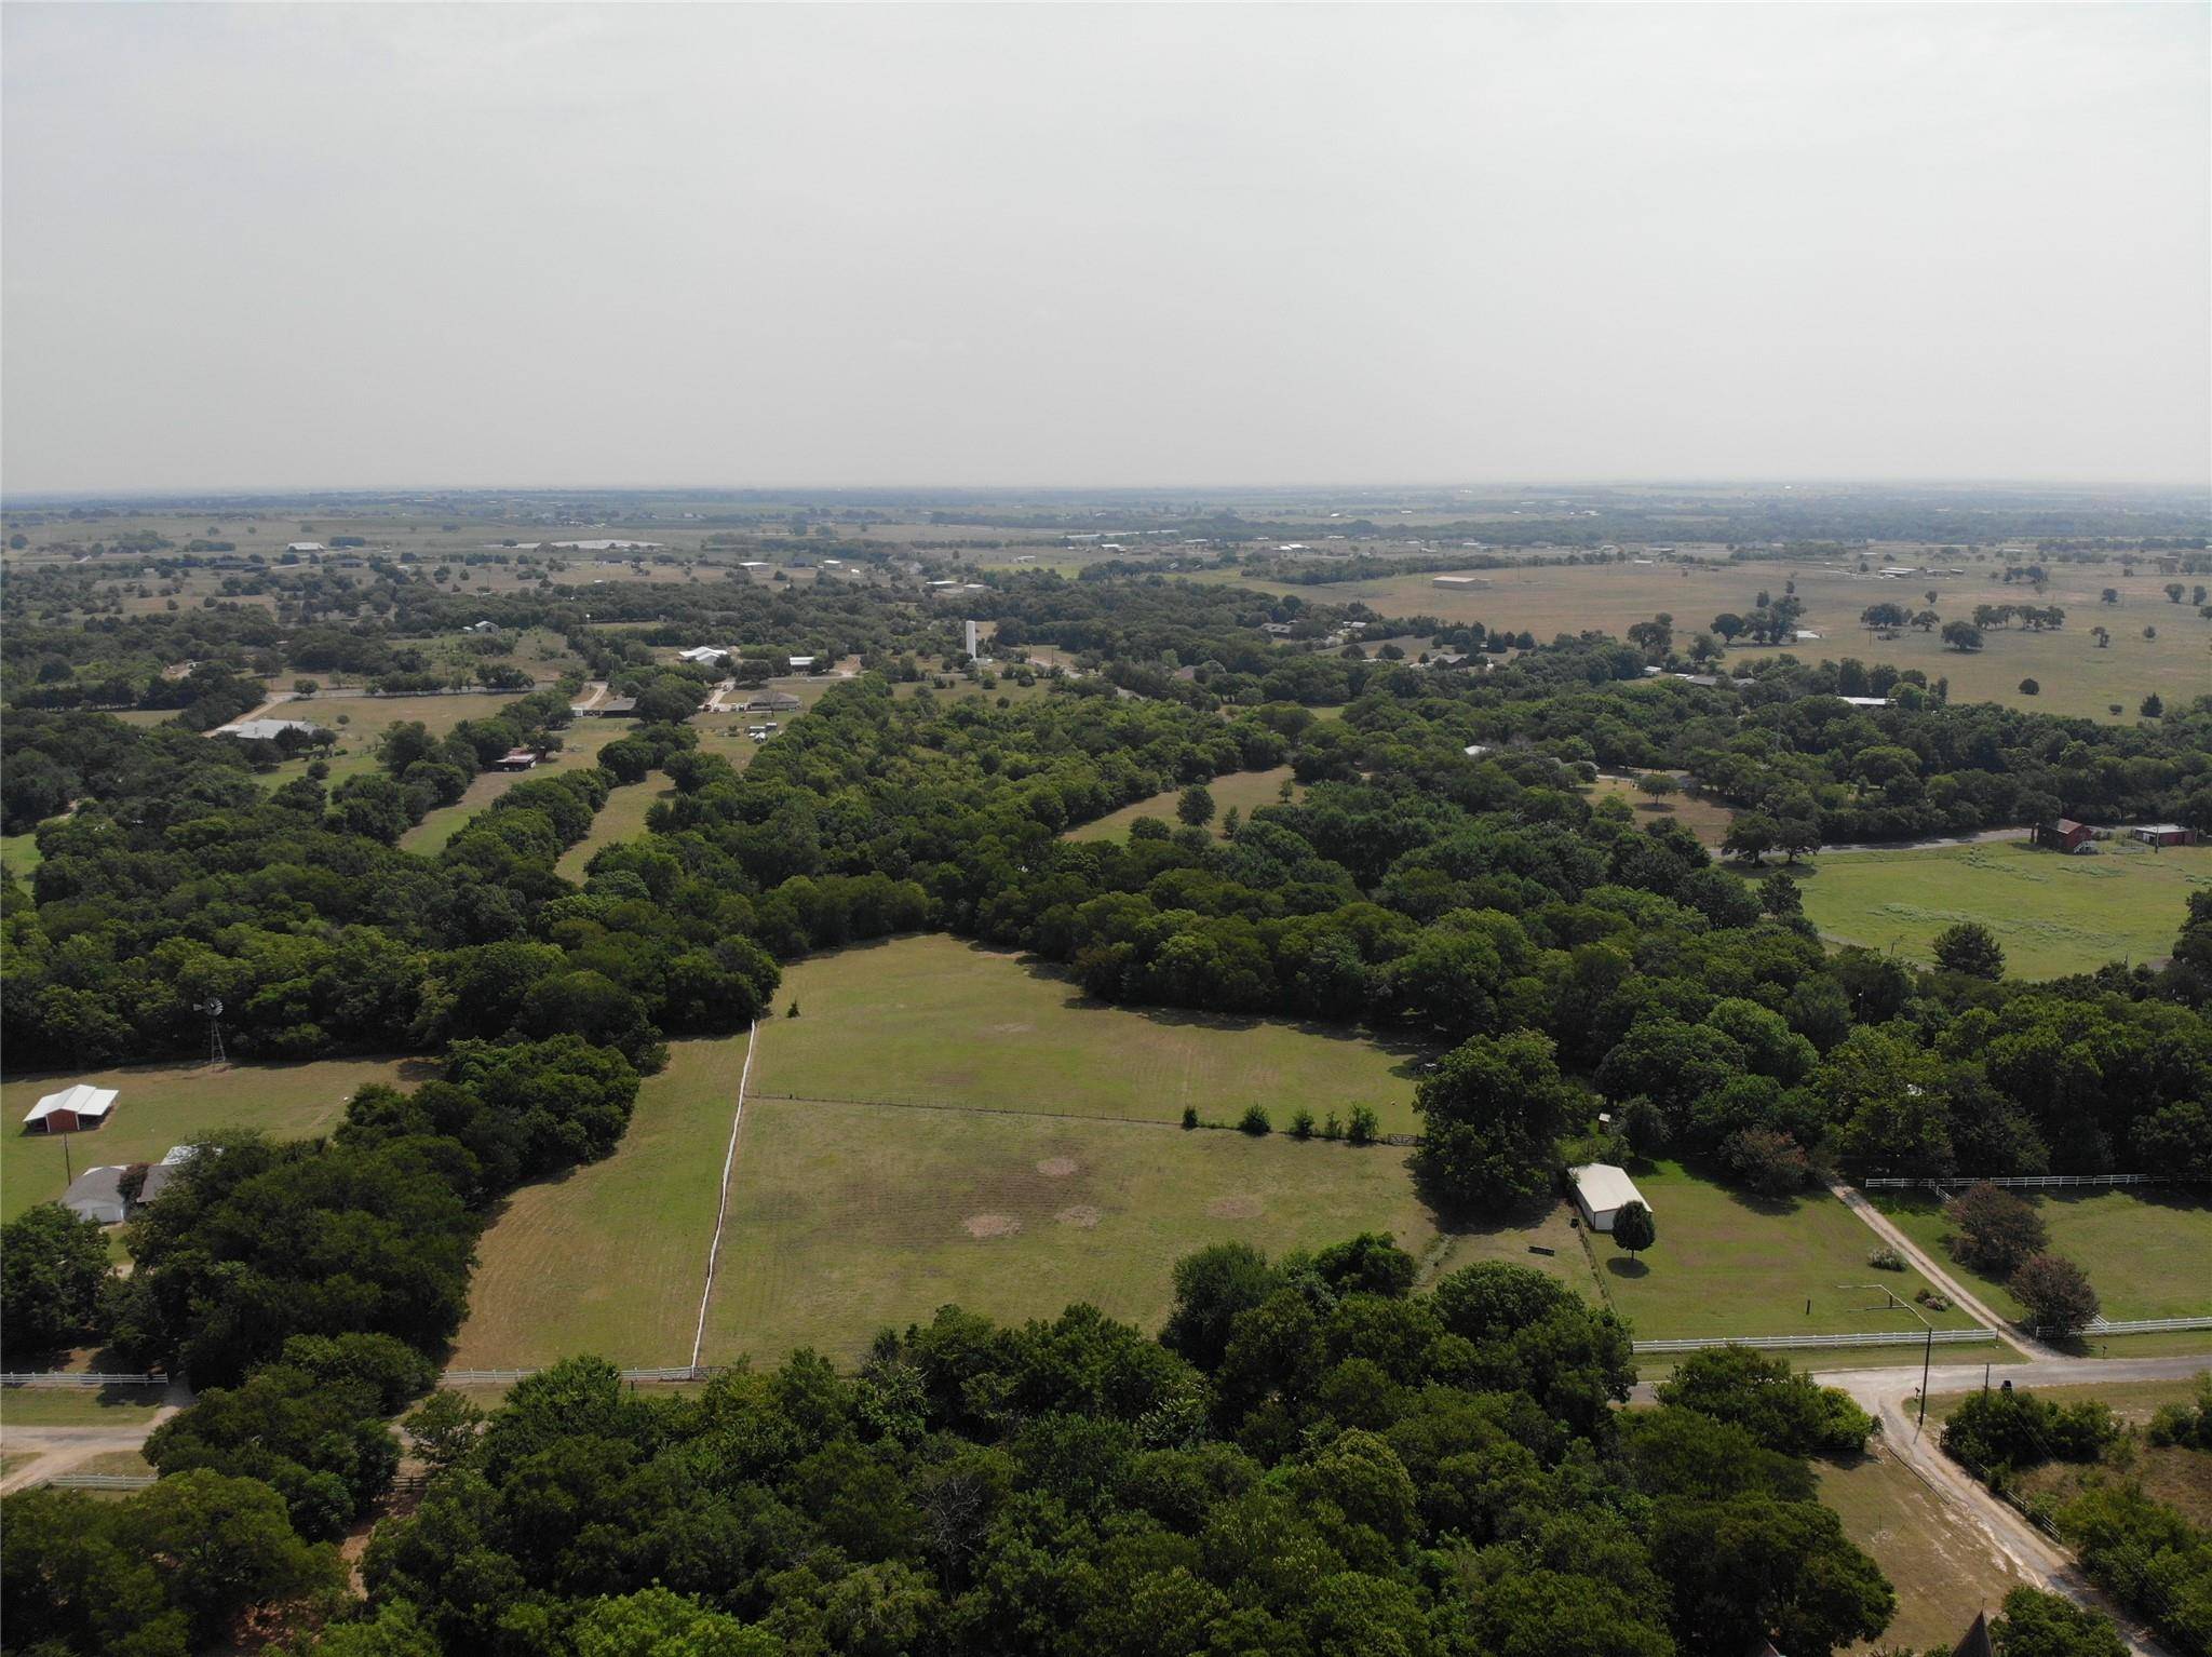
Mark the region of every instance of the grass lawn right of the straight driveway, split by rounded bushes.
[[[2044, 1217], [2051, 1250], [2081, 1265], [2097, 1285], [2104, 1314], [2128, 1319], [2212, 1316], [2212, 1199], [2185, 1190], [2037, 1190], [2020, 1192]], [[1931, 1259], [1955, 1272], [1993, 1312], [2026, 1314], [2013, 1292], [1951, 1259], [1951, 1221], [1924, 1190], [1869, 1192]], [[2212, 1343], [2212, 1334], [2203, 1336]]]

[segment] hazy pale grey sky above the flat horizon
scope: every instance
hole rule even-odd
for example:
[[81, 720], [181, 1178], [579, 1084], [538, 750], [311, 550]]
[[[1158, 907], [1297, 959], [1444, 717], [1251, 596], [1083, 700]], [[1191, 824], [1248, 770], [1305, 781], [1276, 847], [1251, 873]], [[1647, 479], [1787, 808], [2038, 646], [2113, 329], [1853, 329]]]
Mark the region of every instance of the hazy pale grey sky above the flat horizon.
[[18, 0], [0, 484], [2203, 482], [2208, 15]]

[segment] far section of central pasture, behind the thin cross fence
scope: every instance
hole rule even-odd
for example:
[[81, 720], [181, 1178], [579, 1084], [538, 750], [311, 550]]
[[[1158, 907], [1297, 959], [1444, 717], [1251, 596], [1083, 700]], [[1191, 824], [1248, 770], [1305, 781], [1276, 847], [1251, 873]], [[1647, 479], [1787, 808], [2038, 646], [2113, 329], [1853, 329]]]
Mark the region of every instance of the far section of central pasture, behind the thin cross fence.
[[1011, 953], [956, 938], [896, 938], [796, 962], [763, 1024], [757, 1093], [878, 1104], [964, 1104], [1208, 1122], [1263, 1104], [1279, 1128], [1369, 1104], [1411, 1133], [1425, 1051], [1336, 1024], [1133, 1011]]

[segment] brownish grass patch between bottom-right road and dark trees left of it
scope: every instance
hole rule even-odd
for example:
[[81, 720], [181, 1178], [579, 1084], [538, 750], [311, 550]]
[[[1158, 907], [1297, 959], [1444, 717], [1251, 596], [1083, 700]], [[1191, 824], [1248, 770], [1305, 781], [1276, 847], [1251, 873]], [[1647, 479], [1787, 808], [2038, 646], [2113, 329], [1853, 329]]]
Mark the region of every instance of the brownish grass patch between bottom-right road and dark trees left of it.
[[1980, 1524], [1887, 1451], [1814, 1462], [1814, 1473], [1820, 1500], [1898, 1588], [1882, 1646], [1949, 1650], [1978, 1611], [2028, 1582]]

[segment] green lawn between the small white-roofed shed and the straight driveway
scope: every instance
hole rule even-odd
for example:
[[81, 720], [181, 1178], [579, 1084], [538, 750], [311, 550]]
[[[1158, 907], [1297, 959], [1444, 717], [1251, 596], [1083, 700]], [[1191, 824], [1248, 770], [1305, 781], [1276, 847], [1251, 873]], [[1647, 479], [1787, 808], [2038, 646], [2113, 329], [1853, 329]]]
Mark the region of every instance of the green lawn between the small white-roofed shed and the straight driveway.
[[[1891, 1307], [1887, 1294], [1909, 1301], [1927, 1279], [1869, 1268], [1874, 1232], [1825, 1190], [1752, 1197], [1679, 1161], [1637, 1170], [1635, 1181], [1650, 1199], [1659, 1241], [1641, 1259], [1601, 1234], [1590, 1237], [1590, 1248], [1606, 1294], [1639, 1341], [1922, 1327], [1918, 1307]], [[1973, 1327], [1964, 1312], [1924, 1316], [1938, 1330]]]

